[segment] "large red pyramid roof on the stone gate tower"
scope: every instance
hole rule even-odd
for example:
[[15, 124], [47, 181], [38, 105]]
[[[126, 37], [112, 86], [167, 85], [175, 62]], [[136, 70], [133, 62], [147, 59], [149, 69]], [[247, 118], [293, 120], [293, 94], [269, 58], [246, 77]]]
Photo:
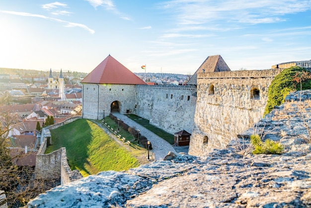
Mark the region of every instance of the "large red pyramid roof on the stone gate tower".
[[146, 85], [112, 56], [107, 56], [81, 83]]

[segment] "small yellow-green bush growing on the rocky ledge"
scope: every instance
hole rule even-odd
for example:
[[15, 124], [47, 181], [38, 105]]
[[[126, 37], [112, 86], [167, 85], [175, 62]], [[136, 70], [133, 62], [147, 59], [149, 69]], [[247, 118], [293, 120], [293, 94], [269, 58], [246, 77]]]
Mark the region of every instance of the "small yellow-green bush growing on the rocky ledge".
[[253, 154], [281, 154], [284, 147], [279, 142], [266, 139], [262, 142], [258, 134], [250, 135], [250, 142], [254, 146]]

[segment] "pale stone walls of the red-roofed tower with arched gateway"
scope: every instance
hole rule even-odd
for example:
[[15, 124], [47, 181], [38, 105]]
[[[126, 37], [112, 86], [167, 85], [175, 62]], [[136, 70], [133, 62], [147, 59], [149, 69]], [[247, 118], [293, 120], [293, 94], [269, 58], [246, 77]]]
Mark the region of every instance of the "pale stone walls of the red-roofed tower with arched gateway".
[[133, 111], [136, 94], [135, 85], [114, 84], [83, 84], [82, 117], [88, 119], [102, 119], [111, 112], [111, 104], [117, 102], [120, 113]]

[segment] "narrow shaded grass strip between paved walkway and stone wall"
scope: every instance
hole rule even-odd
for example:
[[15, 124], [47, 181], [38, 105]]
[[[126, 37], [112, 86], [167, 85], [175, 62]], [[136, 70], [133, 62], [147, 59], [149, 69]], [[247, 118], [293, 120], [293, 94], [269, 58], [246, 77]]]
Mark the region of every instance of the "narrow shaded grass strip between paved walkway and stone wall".
[[[147, 128], [148, 130], [154, 132], [156, 135], [158, 135], [159, 137], [165, 139], [168, 143], [170, 144], [174, 144], [174, 135], [170, 134], [152, 124], [149, 123], [149, 120], [142, 118], [138, 115], [134, 115], [134, 114], [127, 114], [126, 116], [128, 116], [129, 118], [131, 118], [132, 120], [134, 120], [135, 122], [137, 122], [138, 124], [144, 126], [145, 128]], [[147, 138], [148, 139], [148, 138]]]

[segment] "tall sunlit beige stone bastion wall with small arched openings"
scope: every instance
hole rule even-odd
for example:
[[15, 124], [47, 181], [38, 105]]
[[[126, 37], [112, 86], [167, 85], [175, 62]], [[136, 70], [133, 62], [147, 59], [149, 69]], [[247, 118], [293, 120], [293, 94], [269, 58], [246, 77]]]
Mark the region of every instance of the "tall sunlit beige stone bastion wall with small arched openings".
[[[281, 70], [199, 73], [197, 105], [189, 154], [206, 155], [257, 122], [268, 87]], [[253, 96], [254, 95], [254, 96]]]

